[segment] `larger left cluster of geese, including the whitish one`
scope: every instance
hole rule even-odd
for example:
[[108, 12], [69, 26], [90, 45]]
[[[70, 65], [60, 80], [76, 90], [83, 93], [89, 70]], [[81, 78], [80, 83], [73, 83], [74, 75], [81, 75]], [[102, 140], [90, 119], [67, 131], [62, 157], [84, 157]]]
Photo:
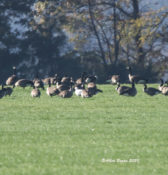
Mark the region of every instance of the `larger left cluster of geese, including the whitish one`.
[[16, 67], [13, 67], [13, 75], [6, 80], [6, 87], [2, 83], [0, 98], [6, 95], [10, 96], [16, 87], [25, 88], [27, 86], [32, 87], [30, 94], [32, 97], [40, 97], [40, 89], [45, 90], [45, 86], [47, 86], [46, 94], [50, 97], [57, 95], [62, 98], [70, 98], [75, 93], [82, 98], [89, 98], [98, 92], [103, 92], [97, 88], [96, 80], [96, 76], [89, 75], [86, 72], [83, 72], [81, 77], [76, 81], [67, 75], [61, 77], [58, 74], [44, 79], [40, 79], [38, 74], [36, 74], [34, 80], [19, 79], [16, 75]]

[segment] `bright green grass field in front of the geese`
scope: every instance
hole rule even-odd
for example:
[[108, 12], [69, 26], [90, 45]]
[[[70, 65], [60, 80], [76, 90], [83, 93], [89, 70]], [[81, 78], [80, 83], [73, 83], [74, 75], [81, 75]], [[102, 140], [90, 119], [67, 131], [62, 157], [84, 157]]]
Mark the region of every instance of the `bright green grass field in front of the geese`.
[[168, 97], [98, 87], [90, 99], [31, 88], [0, 99], [0, 175], [166, 175]]

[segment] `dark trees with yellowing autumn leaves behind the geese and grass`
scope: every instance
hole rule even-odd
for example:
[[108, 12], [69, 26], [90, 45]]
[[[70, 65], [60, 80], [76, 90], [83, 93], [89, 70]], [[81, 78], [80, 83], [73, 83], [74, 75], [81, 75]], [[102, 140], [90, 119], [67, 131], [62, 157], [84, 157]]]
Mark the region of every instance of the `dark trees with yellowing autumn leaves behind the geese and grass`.
[[103, 81], [133, 65], [154, 81], [167, 71], [163, 2], [1, 0], [0, 79], [15, 65], [20, 77], [33, 78], [37, 70], [77, 77], [85, 70]]

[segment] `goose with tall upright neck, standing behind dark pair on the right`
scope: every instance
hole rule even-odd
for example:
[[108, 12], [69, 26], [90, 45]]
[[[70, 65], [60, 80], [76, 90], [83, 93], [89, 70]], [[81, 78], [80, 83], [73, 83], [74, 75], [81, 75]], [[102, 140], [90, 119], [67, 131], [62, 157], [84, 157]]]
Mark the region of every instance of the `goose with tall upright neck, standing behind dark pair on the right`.
[[129, 70], [128, 78], [129, 78], [130, 83], [132, 83], [133, 81], [135, 83], [143, 83], [143, 84], [147, 82], [146, 78], [143, 78], [139, 75], [132, 75], [132, 68], [131, 67], [128, 67], [127, 69]]

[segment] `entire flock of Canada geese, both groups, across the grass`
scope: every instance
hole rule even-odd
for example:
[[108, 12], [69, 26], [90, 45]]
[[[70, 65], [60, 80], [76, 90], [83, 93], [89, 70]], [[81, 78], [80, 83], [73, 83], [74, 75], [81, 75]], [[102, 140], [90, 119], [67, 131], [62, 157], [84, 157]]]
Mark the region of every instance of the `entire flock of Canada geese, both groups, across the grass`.
[[[142, 83], [144, 85], [143, 91], [147, 95], [154, 96], [157, 94], [168, 95], [168, 82], [164, 82], [160, 79], [160, 85], [157, 88], [147, 87], [148, 80], [139, 75], [133, 75], [131, 67], [127, 67], [128, 79], [131, 86], [123, 86], [120, 82], [120, 75], [112, 75], [110, 82], [112, 85], [117, 85], [116, 91], [119, 95], [132, 96], [137, 94], [135, 84]], [[62, 98], [70, 98], [75, 94], [82, 98], [89, 98], [97, 93], [102, 93], [103, 91], [97, 88], [96, 85], [97, 76], [89, 75], [83, 72], [76, 81], [69, 76], [61, 77], [55, 74], [53, 77], [47, 77], [40, 79], [38, 73], [36, 74], [34, 80], [19, 79], [16, 75], [16, 67], [13, 67], [13, 75], [8, 77], [6, 80], [6, 85], [2, 83], [2, 88], [0, 90], [0, 98], [4, 96], [10, 96], [15, 87], [25, 88], [27, 86], [32, 87], [31, 96], [40, 97], [41, 91], [45, 90], [46, 94], [50, 97], [59, 96]], [[109, 81], [109, 80], [108, 80]], [[166, 85], [167, 83], [167, 85]], [[45, 89], [45, 85], [47, 88]]]

